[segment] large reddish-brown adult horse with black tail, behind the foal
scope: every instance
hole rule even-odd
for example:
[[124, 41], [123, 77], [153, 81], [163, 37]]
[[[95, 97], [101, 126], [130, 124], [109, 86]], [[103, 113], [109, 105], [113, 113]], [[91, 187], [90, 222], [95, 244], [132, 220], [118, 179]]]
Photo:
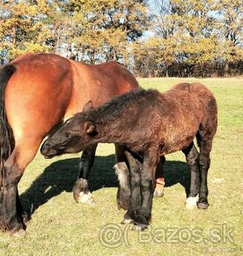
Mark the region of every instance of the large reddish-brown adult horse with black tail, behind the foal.
[[[53, 54], [27, 54], [0, 68], [1, 230], [18, 234], [25, 229], [18, 182], [42, 139], [82, 110], [85, 102], [99, 106], [137, 87], [135, 77], [115, 62], [88, 65]], [[80, 194], [89, 195], [87, 176], [96, 146], [85, 148], [81, 157], [73, 189], [77, 201], [82, 200]], [[119, 146], [116, 158], [126, 161]]]

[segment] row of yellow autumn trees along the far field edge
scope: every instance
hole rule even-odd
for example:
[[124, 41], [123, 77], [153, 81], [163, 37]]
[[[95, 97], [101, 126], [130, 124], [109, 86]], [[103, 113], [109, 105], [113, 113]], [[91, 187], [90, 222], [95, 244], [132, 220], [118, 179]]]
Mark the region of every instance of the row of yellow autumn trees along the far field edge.
[[50, 52], [141, 77], [243, 73], [240, 0], [4, 0], [0, 63]]

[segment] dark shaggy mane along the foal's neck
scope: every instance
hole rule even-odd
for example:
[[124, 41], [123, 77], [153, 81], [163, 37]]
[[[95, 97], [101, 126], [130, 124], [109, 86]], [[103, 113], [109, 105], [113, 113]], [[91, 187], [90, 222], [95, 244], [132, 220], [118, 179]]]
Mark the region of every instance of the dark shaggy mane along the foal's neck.
[[85, 120], [103, 123], [103, 121], [113, 120], [121, 115], [121, 113], [128, 112], [129, 110], [131, 110], [130, 114], [132, 115], [132, 109], [135, 105], [139, 106], [144, 100], [152, 102], [157, 96], [158, 91], [156, 90], [144, 90], [139, 88], [128, 94], [116, 96], [99, 108], [91, 109], [85, 113], [78, 113], [76, 114], [76, 117], [83, 116]]

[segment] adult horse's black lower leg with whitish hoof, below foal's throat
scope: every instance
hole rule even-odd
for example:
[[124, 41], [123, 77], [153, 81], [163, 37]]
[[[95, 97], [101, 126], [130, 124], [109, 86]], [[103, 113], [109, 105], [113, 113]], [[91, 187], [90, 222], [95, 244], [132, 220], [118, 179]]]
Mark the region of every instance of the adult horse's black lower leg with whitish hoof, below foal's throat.
[[94, 204], [88, 187], [88, 176], [94, 162], [96, 147], [97, 144], [86, 147], [80, 158], [78, 177], [72, 189], [73, 197], [77, 203]]

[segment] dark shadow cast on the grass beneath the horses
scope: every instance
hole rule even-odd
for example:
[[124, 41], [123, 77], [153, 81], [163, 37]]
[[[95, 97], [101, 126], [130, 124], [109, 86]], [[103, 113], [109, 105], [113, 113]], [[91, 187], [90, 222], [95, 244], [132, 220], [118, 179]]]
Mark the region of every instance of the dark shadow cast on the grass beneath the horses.
[[[29, 215], [60, 193], [72, 191], [72, 186], [77, 179], [78, 162], [79, 158], [53, 162], [40, 177], [33, 181], [30, 188], [20, 195], [22, 205]], [[89, 177], [91, 192], [102, 187], [117, 187], [114, 163], [114, 154], [96, 156]], [[188, 194], [190, 174], [186, 162], [166, 161], [164, 175], [166, 186], [180, 183]]]

